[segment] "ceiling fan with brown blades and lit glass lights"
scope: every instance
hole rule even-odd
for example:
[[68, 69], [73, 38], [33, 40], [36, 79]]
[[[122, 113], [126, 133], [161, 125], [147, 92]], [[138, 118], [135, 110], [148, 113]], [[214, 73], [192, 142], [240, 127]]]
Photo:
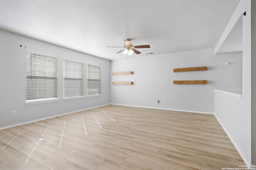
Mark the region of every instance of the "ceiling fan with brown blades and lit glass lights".
[[136, 54], [141, 53], [140, 51], [138, 51], [136, 49], [150, 48], [150, 45], [136, 45], [136, 46], [133, 46], [131, 44], [131, 39], [125, 39], [124, 40], [124, 46], [123, 47], [116, 47], [116, 48], [122, 48], [122, 50], [118, 51], [116, 54], [122, 52], [124, 55], [126, 55], [126, 54], [132, 55], [133, 53], [136, 53]]

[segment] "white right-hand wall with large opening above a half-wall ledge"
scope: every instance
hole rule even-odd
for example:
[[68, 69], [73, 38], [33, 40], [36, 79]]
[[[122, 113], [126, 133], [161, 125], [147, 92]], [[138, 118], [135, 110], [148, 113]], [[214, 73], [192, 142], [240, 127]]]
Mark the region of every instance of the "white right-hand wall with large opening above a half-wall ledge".
[[[251, 131], [253, 130], [251, 127], [251, 0], [240, 1], [227, 28], [230, 29], [230, 25], [234, 25], [245, 11], [246, 16], [243, 16], [242, 98], [215, 92], [215, 116], [244, 162], [250, 165]], [[228, 31], [224, 33], [228, 34]]]

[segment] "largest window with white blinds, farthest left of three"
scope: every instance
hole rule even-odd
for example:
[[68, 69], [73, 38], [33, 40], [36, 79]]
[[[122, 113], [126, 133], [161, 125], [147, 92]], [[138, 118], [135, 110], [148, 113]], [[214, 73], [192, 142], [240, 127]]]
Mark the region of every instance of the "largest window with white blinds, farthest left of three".
[[58, 98], [58, 58], [26, 53], [27, 102]]

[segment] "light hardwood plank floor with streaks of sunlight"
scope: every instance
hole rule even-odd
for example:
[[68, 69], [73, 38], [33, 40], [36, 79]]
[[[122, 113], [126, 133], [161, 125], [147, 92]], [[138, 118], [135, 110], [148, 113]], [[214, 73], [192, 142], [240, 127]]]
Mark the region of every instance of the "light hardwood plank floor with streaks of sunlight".
[[214, 115], [108, 105], [0, 130], [0, 170], [245, 165]]

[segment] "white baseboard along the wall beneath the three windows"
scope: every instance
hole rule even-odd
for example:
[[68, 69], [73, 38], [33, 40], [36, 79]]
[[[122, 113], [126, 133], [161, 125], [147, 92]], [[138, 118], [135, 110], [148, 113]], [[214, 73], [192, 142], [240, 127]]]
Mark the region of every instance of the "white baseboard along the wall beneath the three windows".
[[48, 117], [43, 117], [43, 118], [40, 118], [40, 119], [35, 119], [35, 120], [31, 120], [31, 121], [25, 121], [25, 122], [17, 123], [17, 124], [14, 124], [14, 125], [8, 125], [8, 126], [0, 127], [0, 130], [7, 129], [7, 128], [10, 128], [10, 127], [19, 126], [19, 125], [25, 125], [25, 124], [28, 124], [28, 123], [33, 123], [33, 122], [36, 122], [36, 121], [46, 120], [46, 119], [50, 119], [50, 118], [54, 118], [54, 117], [58, 117], [58, 116], [68, 115], [68, 114], [76, 113], [76, 112], [79, 112], [79, 111], [94, 109], [94, 108], [101, 107], [101, 106], [107, 106], [107, 105], [109, 105], [109, 104], [104, 104], [104, 105], [94, 106], [94, 107], [88, 107], [88, 108], [85, 108], [85, 109], [80, 109], [80, 110], [76, 110], [76, 111], [70, 111], [70, 112], [61, 113], [61, 114], [58, 114], [58, 115], [52, 115], [52, 116], [48, 116]]

